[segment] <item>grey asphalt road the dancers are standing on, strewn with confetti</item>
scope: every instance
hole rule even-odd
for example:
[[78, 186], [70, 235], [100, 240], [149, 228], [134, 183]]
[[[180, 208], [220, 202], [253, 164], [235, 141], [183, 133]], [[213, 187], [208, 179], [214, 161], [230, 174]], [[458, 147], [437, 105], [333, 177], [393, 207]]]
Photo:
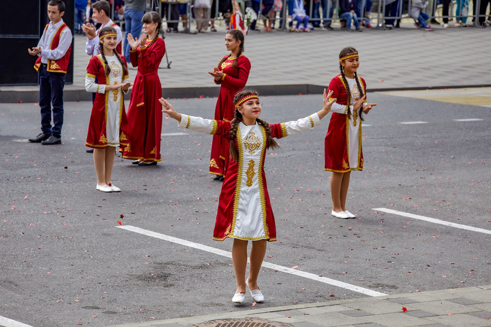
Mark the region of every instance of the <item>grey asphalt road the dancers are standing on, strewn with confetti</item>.
[[[489, 284], [489, 234], [379, 208], [491, 230], [491, 108], [368, 99], [378, 105], [363, 126], [364, 171], [352, 173], [348, 193], [356, 219], [330, 216], [328, 117], [268, 152], [278, 241], [265, 261], [385, 294]], [[261, 101], [270, 123], [322, 103], [320, 95]], [[215, 102], [173, 101], [203, 117], [213, 117]], [[231, 240], [211, 238], [220, 193], [207, 174], [211, 136], [164, 120], [163, 161], [137, 167], [116, 158], [113, 181], [123, 191], [106, 194], [95, 190], [85, 153], [90, 109], [65, 103], [63, 144], [50, 147], [23, 141], [39, 131], [36, 104], [0, 104], [0, 316], [35, 327], [107, 326], [251, 308], [230, 301], [231, 259], [118, 228], [229, 252]], [[269, 268], [259, 278], [259, 307], [368, 296]]]

